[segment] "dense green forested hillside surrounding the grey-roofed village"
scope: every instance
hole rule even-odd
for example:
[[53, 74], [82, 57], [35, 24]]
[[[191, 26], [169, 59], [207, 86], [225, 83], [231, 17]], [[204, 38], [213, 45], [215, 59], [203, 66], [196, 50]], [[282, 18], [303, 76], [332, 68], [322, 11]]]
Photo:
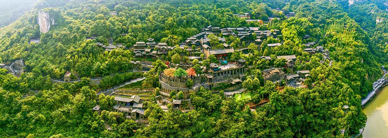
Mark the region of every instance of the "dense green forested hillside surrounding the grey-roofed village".
[[[287, 19], [283, 13], [271, 10], [276, 8], [296, 12], [296, 16]], [[370, 8], [379, 14], [366, 13]], [[26, 64], [26, 72], [20, 78], [0, 69], [0, 135], [9, 138], [347, 138], [365, 126], [367, 118], [361, 112], [360, 100], [372, 90], [372, 82], [382, 75], [379, 67], [387, 61], [388, 17], [379, 8], [370, 4], [345, 9], [336, 0], [42, 1], [0, 29], [0, 63], [24, 59]], [[36, 20], [41, 10], [55, 17], [55, 25], [47, 33], [40, 33]], [[112, 11], [117, 16], [109, 14]], [[263, 25], [248, 23], [233, 15], [245, 12], [263, 21], [268, 21], [269, 16], [280, 20]], [[360, 19], [357, 13], [386, 20], [375, 24]], [[255, 94], [252, 100], [269, 100], [255, 111], [249, 110], [246, 101], [225, 97], [223, 91], [214, 94], [201, 88], [191, 95], [194, 110], [189, 112], [165, 112], [157, 104], [146, 102], [148, 125], [138, 125], [124, 119], [121, 112], [108, 108], [114, 105], [114, 97], [102, 94], [97, 98], [99, 90], [140, 76], [147, 77], [145, 82], [157, 87], [154, 80], [166, 68], [158, 60], [147, 73], [116, 74], [131, 69], [130, 62], [138, 59], [125, 48], [104, 51], [97, 41], [123, 43], [129, 48], [137, 41], [154, 38], [175, 46], [210, 25], [280, 30], [279, 40], [264, 40], [262, 50], [251, 50], [248, 55], [236, 52], [237, 57], [251, 66], [247, 76], [261, 79], [260, 67], [267, 64], [261, 56], [293, 54], [297, 56], [294, 66], [297, 70], [310, 70], [311, 78], [306, 83], [312, 87], [285, 87], [279, 91], [272, 82], [255, 80], [255, 87], [250, 88]], [[305, 35], [311, 37], [303, 39]], [[96, 39], [86, 39], [91, 37]], [[31, 39], [41, 42], [29, 43]], [[278, 41], [284, 41], [283, 45], [267, 48], [267, 43]], [[320, 64], [321, 54], [303, 52], [308, 41], [327, 48], [334, 62]], [[173, 55], [184, 52], [178, 47], [161, 59], [171, 61]], [[78, 74], [81, 81], [51, 83], [51, 78], [62, 78], [67, 71]], [[103, 81], [106, 84], [89, 85], [89, 78], [109, 75], [112, 77]], [[36, 90], [39, 92], [34, 93]], [[105, 105], [101, 114], [92, 111], [96, 104]], [[345, 105], [349, 107], [347, 110], [343, 110]], [[105, 129], [105, 124], [112, 130]]]

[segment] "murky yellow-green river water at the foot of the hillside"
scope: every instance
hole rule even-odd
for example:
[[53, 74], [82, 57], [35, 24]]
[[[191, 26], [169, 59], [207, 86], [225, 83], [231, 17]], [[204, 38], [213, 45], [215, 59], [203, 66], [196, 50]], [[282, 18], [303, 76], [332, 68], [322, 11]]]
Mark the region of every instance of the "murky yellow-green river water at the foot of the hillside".
[[368, 117], [362, 138], [388, 138], [388, 86], [362, 110]]

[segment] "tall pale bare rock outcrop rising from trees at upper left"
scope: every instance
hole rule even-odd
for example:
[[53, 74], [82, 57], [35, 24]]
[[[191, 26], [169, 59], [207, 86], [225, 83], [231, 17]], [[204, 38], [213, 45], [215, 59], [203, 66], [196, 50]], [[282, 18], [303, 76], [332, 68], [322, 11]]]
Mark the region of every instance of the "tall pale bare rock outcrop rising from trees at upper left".
[[54, 17], [50, 17], [48, 12], [39, 11], [38, 24], [40, 33], [47, 33], [50, 30], [51, 25], [55, 24]]

